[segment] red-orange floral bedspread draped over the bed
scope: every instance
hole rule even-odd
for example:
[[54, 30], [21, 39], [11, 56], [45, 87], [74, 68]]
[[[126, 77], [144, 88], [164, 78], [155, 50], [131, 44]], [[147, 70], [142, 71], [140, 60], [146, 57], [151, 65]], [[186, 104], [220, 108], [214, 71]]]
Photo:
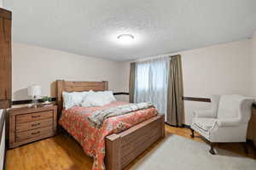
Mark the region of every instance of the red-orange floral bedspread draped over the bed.
[[92, 170], [106, 169], [104, 165], [106, 136], [124, 131], [157, 115], [157, 111], [154, 107], [151, 107], [121, 116], [109, 117], [103, 122], [101, 128], [96, 128], [87, 118], [94, 111], [125, 104], [127, 103], [115, 101], [102, 107], [74, 106], [73, 108], [62, 111], [59, 123], [82, 145], [84, 152], [94, 158]]

